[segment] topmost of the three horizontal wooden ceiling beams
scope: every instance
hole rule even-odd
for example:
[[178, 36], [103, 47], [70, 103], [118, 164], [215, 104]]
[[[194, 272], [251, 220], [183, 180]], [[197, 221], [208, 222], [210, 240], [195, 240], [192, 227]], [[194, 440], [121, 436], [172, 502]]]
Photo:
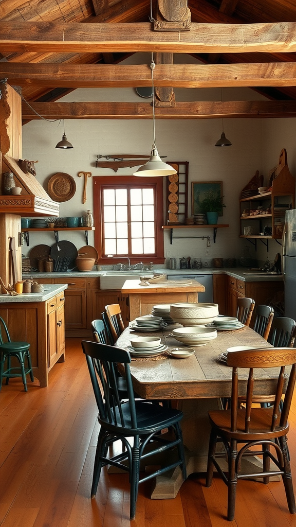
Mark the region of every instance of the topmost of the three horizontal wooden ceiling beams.
[[2, 53], [295, 52], [296, 23], [200, 24], [185, 32], [154, 32], [149, 22], [81, 24], [0, 22]]

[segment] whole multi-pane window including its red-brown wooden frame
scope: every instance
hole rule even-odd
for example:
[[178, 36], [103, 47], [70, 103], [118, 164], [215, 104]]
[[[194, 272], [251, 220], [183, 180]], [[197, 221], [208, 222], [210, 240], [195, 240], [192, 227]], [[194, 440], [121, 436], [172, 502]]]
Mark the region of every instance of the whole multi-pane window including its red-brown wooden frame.
[[105, 263], [110, 255], [163, 261], [163, 178], [93, 179], [95, 245], [100, 262]]

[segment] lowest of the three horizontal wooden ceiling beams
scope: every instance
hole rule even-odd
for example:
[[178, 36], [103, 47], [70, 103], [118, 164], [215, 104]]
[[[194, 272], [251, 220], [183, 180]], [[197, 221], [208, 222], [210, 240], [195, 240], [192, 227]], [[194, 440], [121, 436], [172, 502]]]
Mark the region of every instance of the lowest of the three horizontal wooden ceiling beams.
[[[22, 103], [24, 120], [41, 119], [152, 119], [150, 103], [54, 102]], [[35, 112], [34, 112], [35, 110]], [[296, 117], [296, 101], [176, 102], [155, 108], [156, 119], [220, 119]]]

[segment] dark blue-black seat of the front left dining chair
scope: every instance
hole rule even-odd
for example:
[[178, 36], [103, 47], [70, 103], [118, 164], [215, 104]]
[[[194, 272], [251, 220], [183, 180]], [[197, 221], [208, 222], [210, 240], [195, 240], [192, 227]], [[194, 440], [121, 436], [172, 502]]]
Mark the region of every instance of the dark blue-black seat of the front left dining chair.
[[[131, 427], [131, 416], [130, 416], [130, 405], [124, 403], [121, 405], [121, 411], [124, 417], [124, 435], [130, 434], [141, 435], [141, 432], [145, 434], [157, 432], [163, 428], [169, 428], [175, 423], [176, 418], [182, 418], [183, 414], [180, 410], [173, 408], [163, 408], [159, 404], [153, 404], [148, 401], [135, 401], [137, 428], [136, 430]], [[116, 413], [116, 421], [120, 423], [120, 415]], [[110, 422], [105, 422], [104, 419], [98, 418], [98, 422], [104, 426], [106, 423], [110, 430]], [[119, 433], [122, 426], [118, 426], [114, 423], [114, 431]]]

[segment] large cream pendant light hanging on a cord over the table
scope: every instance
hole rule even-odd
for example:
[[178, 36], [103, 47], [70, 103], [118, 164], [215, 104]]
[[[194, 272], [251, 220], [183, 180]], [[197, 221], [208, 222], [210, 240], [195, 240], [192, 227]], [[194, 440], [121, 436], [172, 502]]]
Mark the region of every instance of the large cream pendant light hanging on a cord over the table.
[[151, 78], [152, 78], [152, 108], [153, 108], [153, 144], [150, 154], [149, 161], [139, 167], [134, 175], [139, 175], [142, 177], [159, 177], [164, 175], [176, 174], [177, 171], [171, 167], [171, 165], [164, 163], [157, 151], [155, 145], [155, 100], [154, 100], [154, 79], [153, 79], [153, 70], [155, 68], [155, 63], [153, 60], [153, 53], [151, 54]]

